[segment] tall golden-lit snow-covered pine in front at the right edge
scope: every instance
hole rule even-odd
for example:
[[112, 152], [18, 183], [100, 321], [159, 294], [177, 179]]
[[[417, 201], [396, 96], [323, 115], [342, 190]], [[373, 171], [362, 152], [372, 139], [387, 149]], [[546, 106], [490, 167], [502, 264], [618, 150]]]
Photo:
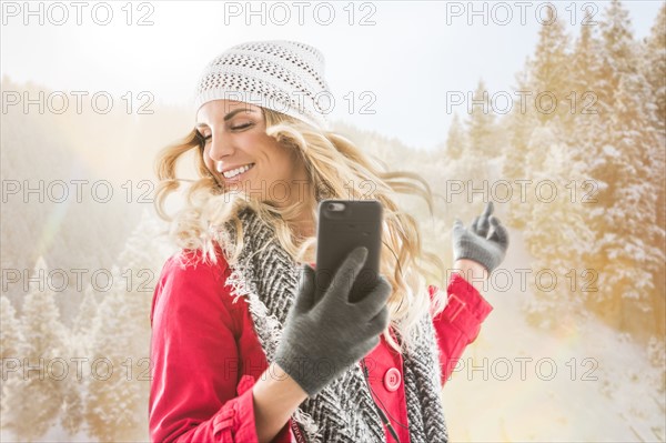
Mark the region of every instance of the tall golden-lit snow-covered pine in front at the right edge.
[[[654, 128], [649, 125], [644, 103], [645, 83], [638, 75], [622, 78], [615, 97], [615, 114], [609, 129], [608, 169], [616, 180], [609, 183], [610, 201], [604, 214], [606, 230], [599, 246], [602, 264], [599, 283], [613, 288], [609, 304], [599, 306], [614, 313], [618, 326], [632, 328], [640, 311], [649, 311], [660, 295], [656, 276], [664, 270], [664, 228], [657, 224], [658, 184], [663, 174], [652, 162], [650, 153], [658, 147]], [[663, 321], [663, 319], [662, 319]], [[656, 324], [652, 324], [654, 329]]]

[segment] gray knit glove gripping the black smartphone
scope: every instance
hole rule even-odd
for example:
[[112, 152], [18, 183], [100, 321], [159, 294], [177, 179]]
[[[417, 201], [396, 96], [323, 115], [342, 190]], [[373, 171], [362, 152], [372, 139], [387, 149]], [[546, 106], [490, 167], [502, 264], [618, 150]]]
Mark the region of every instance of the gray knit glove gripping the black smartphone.
[[382, 275], [364, 298], [349, 302], [350, 289], [366, 256], [363, 246], [352, 251], [317, 303], [314, 270], [307, 264], [303, 268], [275, 362], [309, 396], [316, 395], [375, 348], [379, 334], [389, 324], [386, 302], [392, 288]]

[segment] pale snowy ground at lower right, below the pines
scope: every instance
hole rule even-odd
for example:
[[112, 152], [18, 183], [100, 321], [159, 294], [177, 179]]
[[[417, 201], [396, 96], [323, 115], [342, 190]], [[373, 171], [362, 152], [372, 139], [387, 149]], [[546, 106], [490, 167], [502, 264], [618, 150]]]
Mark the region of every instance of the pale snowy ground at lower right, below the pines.
[[[512, 232], [503, 266], [528, 268], [521, 243]], [[488, 291], [494, 311], [444, 389], [451, 440], [664, 442], [664, 369], [594, 320], [555, 333], [529, 326], [521, 313], [528, 293], [514, 289]]]

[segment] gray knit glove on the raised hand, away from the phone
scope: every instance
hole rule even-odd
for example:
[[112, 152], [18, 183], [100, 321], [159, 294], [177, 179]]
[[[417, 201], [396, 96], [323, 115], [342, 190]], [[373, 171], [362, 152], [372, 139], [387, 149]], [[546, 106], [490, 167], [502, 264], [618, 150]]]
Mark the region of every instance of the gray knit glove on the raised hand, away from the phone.
[[[468, 259], [493, 272], [502, 263], [508, 248], [508, 232], [493, 213], [493, 202], [472, 222], [467, 230], [463, 222], [455, 219], [453, 224], [453, 260]], [[494, 232], [488, 235], [490, 226]]]

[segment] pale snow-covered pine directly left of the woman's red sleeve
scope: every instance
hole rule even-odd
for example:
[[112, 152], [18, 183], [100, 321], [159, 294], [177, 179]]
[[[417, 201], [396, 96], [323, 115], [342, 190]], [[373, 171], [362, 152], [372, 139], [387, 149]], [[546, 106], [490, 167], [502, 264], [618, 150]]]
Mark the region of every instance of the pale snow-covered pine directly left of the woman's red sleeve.
[[91, 359], [105, 361], [113, 369], [109, 374], [100, 370], [88, 386], [85, 420], [90, 435], [101, 441], [148, 436], [150, 308], [170, 252], [155, 240], [160, 230], [158, 221], [144, 211], [119, 255], [120, 266], [111, 271], [113, 289], [100, 303], [94, 320]]

